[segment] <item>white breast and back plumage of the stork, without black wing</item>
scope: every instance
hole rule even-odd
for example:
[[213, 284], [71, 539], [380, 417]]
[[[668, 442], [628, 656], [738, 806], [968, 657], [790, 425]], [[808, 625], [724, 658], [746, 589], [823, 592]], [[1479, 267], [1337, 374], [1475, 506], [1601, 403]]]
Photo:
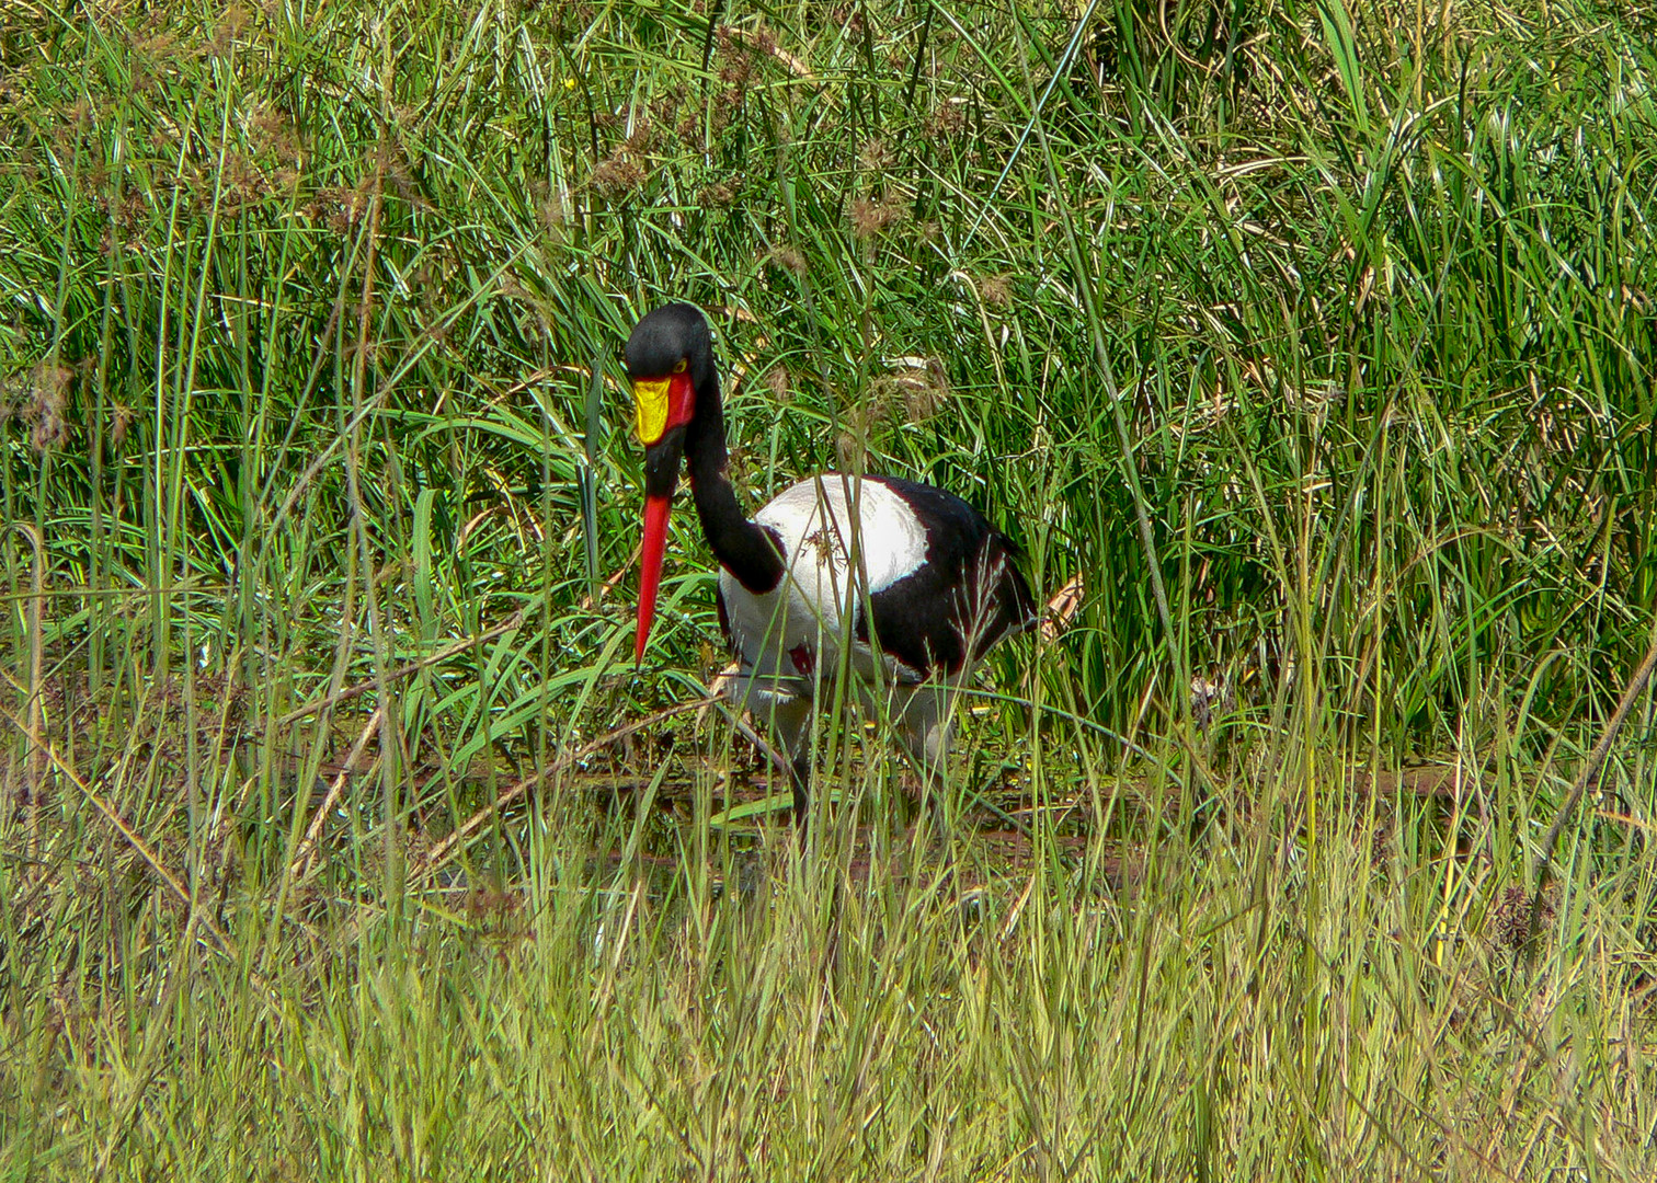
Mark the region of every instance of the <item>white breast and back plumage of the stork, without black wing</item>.
[[[762, 679], [833, 676], [842, 645], [863, 678], [875, 654], [855, 640], [865, 593], [890, 587], [926, 562], [926, 535], [910, 505], [878, 480], [838, 472], [784, 489], [759, 514], [782, 540], [787, 572], [774, 592], [754, 595], [719, 572], [731, 636], [742, 664]], [[886, 678], [915, 674], [885, 658]], [[780, 689], [780, 688], [777, 688]]]

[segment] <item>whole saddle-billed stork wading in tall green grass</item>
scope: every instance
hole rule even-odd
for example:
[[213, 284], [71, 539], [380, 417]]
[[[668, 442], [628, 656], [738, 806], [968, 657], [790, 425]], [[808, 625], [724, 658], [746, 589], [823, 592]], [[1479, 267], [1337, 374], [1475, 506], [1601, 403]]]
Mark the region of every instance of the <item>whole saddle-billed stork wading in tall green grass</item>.
[[954, 494], [895, 477], [825, 472], [744, 517], [727, 472], [713, 336], [688, 303], [638, 321], [626, 373], [645, 444], [635, 659], [656, 615], [683, 456], [719, 560], [719, 625], [739, 661], [727, 698], [771, 722], [789, 759], [795, 818], [805, 820], [812, 704], [845, 656], [865, 706], [885, 696], [911, 756], [941, 772], [949, 693], [989, 646], [1036, 623], [1014, 545]]

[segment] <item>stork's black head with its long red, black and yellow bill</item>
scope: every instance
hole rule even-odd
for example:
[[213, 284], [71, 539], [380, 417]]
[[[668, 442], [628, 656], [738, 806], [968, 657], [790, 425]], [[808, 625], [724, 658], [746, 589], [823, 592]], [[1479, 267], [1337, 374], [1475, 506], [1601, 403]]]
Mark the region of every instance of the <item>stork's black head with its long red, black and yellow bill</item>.
[[626, 376], [633, 383], [638, 439], [645, 444], [645, 548], [638, 583], [638, 635], [633, 641], [633, 659], [643, 661], [650, 623], [656, 616], [668, 514], [679, 482], [684, 436], [696, 419], [698, 393], [704, 399], [717, 399], [713, 335], [706, 316], [688, 303], [669, 303], [646, 313], [626, 340]]

